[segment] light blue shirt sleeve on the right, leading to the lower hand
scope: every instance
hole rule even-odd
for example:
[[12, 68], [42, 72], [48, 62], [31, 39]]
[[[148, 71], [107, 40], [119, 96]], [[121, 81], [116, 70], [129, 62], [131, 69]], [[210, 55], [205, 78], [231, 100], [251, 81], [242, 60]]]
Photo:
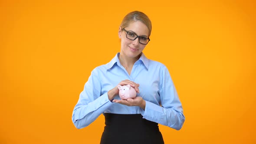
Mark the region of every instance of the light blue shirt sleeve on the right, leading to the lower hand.
[[141, 111], [141, 115], [149, 121], [180, 130], [184, 124], [185, 117], [181, 101], [166, 67], [160, 73], [159, 95], [161, 106], [146, 101], [145, 110]]

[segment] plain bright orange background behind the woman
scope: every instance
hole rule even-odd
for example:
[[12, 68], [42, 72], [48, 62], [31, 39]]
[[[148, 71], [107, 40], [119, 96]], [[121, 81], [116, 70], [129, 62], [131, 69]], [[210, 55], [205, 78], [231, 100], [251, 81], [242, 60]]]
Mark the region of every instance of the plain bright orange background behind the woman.
[[92, 69], [120, 50], [133, 10], [153, 24], [145, 55], [169, 69], [186, 121], [166, 144], [255, 144], [256, 10], [240, 1], [0, 1], [0, 144], [99, 144], [73, 108]]

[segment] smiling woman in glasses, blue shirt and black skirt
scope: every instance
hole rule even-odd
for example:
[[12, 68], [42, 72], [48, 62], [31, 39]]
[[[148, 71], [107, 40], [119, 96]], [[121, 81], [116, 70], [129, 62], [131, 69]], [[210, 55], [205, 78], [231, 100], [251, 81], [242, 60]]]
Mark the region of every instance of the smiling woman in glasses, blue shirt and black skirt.
[[[101, 144], [164, 144], [158, 123], [181, 129], [183, 108], [167, 68], [147, 59], [151, 21], [139, 11], [128, 13], [119, 27], [121, 51], [96, 67], [75, 105], [72, 121], [84, 128], [105, 116]], [[117, 85], [131, 85], [136, 98], [121, 100]]]

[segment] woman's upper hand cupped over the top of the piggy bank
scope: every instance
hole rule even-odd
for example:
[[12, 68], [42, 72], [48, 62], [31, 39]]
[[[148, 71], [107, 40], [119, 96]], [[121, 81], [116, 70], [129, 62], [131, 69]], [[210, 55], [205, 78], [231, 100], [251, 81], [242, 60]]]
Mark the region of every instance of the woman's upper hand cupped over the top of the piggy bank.
[[[139, 84], [132, 82], [128, 79], [125, 79], [121, 82], [119, 82], [118, 85], [131, 85], [131, 87], [135, 88], [136, 92], [139, 93]], [[115, 88], [112, 88], [111, 90], [108, 91], [108, 99], [111, 101], [116, 95], [119, 94], [119, 89], [117, 86]]]

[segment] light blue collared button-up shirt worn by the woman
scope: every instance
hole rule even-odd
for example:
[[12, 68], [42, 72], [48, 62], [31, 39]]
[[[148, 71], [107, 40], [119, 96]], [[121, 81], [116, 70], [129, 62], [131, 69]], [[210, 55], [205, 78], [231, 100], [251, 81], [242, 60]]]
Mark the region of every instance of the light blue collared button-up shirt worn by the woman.
[[[75, 127], [88, 126], [102, 113], [114, 113], [141, 114], [149, 121], [181, 129], [185, 120], [183, 108], [166, 66], [147, 59], [142, 53], [129, 75], [118, 56], [119, 53], [107, 64], [92, 70], [72, 114]], [[145, 110], [109, 101], [108, 91], [125, 79], [140, 84], [137, 96], [146, 101]], [[117, 95], [114, 99], [120, 98]]]

